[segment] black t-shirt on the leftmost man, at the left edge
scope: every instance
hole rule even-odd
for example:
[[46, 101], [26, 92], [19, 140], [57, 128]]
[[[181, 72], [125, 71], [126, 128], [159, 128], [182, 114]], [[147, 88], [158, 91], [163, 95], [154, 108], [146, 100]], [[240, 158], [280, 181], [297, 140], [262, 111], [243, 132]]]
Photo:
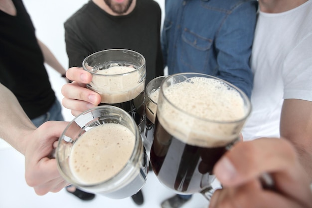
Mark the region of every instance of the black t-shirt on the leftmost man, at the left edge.
[[0, 10], [0, 82], [33, 119], [47, 112], [56, 97], [30, 16], [21, 0], [12, 1], [16, 16]]

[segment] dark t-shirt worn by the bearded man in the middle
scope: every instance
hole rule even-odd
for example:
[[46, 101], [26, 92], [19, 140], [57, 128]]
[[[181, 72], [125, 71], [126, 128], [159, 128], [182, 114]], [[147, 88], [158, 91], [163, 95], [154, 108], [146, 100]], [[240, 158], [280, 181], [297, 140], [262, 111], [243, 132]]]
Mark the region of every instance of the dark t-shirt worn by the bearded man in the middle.
[[64, 23], [69, 67], [81, 67], [100, 50], [134, 50], [146, 59], [147, 84], [163, 75], [160, 24], [161, 9], [154, 0], [137, 0], [135, 9], [122, 16], [110, 15], [90, 0]]

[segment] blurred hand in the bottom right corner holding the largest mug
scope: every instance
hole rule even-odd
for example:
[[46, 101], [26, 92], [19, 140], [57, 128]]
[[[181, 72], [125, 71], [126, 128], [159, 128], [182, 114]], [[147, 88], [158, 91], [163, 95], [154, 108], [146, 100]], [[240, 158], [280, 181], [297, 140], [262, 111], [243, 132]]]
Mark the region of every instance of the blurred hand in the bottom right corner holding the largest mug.
[[[261, 138], [240, 142], [214, 167], [223, 186], [209, 208], [312, 208], [309, 177], [293, 146], [284, 139]], [[261, 178], [269, 174], [274, 187]]]

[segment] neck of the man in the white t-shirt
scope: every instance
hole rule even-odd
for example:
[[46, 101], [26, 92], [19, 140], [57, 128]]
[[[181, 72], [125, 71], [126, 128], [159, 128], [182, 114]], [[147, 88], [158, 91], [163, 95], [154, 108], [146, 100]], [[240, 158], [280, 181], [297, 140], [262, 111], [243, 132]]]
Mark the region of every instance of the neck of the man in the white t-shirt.
[[291, 10], [308, 0], [259, 0], [260, 10], [267, 13], [280, 13]]

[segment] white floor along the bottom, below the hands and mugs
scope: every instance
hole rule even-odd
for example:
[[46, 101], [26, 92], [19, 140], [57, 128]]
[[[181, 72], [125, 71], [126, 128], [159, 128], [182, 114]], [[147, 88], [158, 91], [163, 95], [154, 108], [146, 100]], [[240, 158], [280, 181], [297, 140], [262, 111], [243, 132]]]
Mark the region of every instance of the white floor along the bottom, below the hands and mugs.
[[[37, 196], [24, 180], [24, 157], [12, 148], [0, 149], [0, 208], [137, 208], [131, 198], [111, 200], [97, 195], [89, 202], [80, 201], [64, 189], [59, 193]], [[145, 203], [142, 208], [160, 208], [163, 199], [174, 193], [163, 187], [150, 173], [143, 187]], [[195, 194], [183, 208], [207, 208], [208, 202]]]

